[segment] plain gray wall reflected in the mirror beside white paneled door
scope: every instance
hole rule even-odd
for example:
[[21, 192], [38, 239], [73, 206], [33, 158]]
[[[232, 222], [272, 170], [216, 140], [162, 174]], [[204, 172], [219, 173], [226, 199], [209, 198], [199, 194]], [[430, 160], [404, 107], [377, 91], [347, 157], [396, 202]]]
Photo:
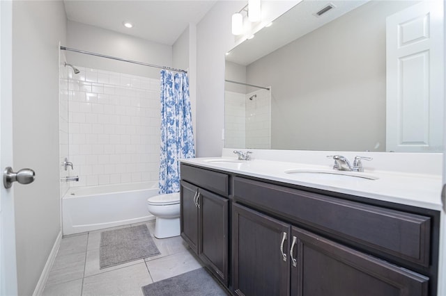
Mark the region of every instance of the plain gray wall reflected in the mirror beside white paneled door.
[[247, 67], [272, 85], [272, 149], [385, 151], [385, 18], [401, 6], [367, 3]]

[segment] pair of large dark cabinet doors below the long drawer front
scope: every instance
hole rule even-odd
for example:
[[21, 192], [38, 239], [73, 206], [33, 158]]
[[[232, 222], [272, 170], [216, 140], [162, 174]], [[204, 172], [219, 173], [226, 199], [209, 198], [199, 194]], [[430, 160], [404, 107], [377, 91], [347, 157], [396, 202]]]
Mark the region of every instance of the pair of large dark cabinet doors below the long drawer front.
[[236, 295], [428, 295], [427, 277], [233, 204]]

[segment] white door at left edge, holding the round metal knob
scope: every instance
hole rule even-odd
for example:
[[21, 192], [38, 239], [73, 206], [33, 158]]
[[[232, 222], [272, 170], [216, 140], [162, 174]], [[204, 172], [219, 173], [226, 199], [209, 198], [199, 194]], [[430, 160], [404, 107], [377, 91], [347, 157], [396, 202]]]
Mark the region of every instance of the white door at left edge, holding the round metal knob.
[[[13, 166], [12, 1], [0, 1], [0, 169]], [[14, 191], [0, 186], [0, 295], [17, 295]]]

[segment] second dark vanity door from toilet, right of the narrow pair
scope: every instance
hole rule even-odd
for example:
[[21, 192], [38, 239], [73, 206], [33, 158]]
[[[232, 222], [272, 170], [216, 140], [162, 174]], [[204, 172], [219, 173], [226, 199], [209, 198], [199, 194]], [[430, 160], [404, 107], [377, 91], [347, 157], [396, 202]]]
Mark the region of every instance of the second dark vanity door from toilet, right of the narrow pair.
[[199, 257], [227, 285], [229, 200], [200, 188], [198, 202]]

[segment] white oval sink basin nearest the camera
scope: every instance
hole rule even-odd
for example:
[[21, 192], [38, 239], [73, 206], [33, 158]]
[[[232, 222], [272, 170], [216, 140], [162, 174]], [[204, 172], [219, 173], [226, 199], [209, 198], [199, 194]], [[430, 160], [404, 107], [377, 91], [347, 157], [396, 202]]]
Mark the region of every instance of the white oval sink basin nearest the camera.
[[332, 181], [373, 181], [379, 179], [376, 176], [364, 174], [362, 172], [343, 172], [331, 170], [286, 170], [286, 174], [298, 176], [302, 179], [312, 180], [332, 180]]

